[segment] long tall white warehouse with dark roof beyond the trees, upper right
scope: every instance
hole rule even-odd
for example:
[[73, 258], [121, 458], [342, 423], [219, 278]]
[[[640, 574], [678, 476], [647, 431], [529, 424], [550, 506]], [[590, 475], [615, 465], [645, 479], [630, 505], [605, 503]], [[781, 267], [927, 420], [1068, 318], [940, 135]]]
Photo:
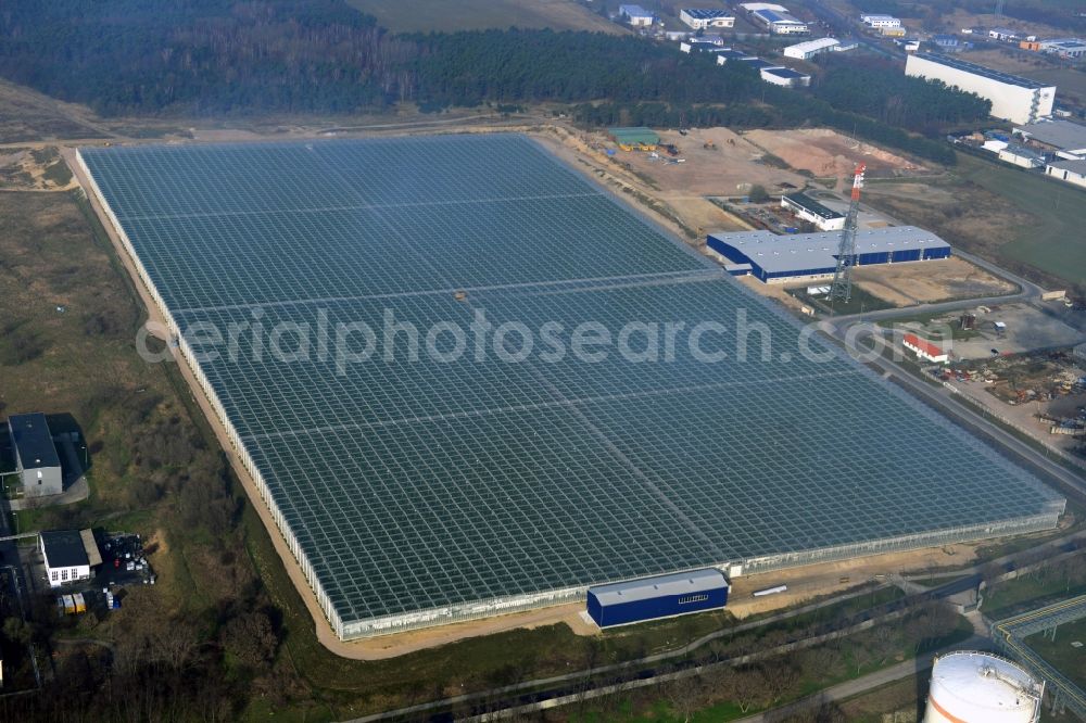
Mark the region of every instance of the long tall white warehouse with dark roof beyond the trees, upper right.
[[1012, 123], [1034, 123], [1052, 115], [1056, 86], [1046, 86], [1009, 73], [956, 58], [914, 53], [905, 62], [905, 73], [917, 78], [942, 80], [992, 101], [992, 115]]

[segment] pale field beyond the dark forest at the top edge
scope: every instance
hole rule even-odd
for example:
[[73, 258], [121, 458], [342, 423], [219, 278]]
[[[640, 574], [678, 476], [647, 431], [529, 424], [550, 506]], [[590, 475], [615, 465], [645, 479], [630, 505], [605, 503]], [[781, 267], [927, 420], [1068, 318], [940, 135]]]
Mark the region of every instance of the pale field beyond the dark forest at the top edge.
[[446, 31], [550, 27], [622, 33], [578, 0], [348, 0], [396, 31]]

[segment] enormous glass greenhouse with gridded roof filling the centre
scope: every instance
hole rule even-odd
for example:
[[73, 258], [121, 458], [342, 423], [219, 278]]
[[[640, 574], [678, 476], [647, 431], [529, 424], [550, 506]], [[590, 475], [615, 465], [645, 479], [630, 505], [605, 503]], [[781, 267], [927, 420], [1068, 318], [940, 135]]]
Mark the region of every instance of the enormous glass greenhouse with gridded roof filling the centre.
[[[326, 315], [329, 329], [376, 330], [381, 351], [346, 366], [318, 340], [294, 360], [245, 338], [232, 358], [192, 362], [341, 637], [727, 562], [1035, 529], [1062, 509], [846, 354], [815, 339], [828, 356], [801, 355], [795, 320], [527, 137], [80, 157], [177, 329], [260, 317], [265, 332], [308, 324], [315, 339]], [[668, 363], [616, 348], [590, 363], [542, 357], [539, 341], [516, 363], [512, 333], [506, 358], [485, 346], [449, 362], [412, 359], [406, 332], [388, 357], [380, 341], [390, 318], [425, 334], [482, 313], [557, 322], [569, 351], [582, 324], [692, 328], [741, 309], [794, 353], [709, 364], [680, 343]], [[702, 354], [734, 350], [732, 328], [706, 334]], [[361, 357], [365, 337], [354, 342]]]

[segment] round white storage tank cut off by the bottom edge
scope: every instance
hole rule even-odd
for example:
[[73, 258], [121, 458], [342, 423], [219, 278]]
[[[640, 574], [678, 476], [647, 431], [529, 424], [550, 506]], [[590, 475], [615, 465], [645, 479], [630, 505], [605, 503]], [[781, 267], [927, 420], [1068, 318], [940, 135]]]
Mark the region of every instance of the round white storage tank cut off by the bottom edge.
[[1037, 723], [1045, 684], [987, 652], [935, 659], [924, 723]]

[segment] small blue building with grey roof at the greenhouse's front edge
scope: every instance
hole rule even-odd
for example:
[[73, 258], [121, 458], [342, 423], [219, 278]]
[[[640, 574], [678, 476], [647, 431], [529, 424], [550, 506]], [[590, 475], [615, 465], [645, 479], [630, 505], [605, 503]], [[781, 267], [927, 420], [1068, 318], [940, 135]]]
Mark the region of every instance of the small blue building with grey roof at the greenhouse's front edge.
[[601, 627], [722, 608], [728, 579], [708, 568], [589, 588], [589, 616]]

